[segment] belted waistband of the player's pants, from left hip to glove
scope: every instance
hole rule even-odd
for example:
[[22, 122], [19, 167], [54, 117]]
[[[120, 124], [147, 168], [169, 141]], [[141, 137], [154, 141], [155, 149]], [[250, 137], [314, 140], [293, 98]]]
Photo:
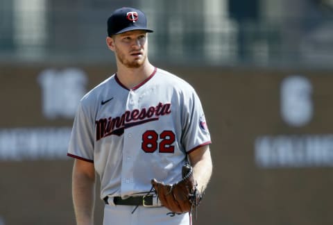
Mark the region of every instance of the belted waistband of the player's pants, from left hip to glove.
[[105, 204], [109, 204], [109, 201], [112, 201], [114, 205], [121, 206], [146, 206], [146, 207], [158, 207], [162, 206], [160, 199], [156, 195], [145, 195], [145, 196], [135, 196], [128, 197], [127, 199], [121, 199], [121, 197], [105, 197], [103, 200]]

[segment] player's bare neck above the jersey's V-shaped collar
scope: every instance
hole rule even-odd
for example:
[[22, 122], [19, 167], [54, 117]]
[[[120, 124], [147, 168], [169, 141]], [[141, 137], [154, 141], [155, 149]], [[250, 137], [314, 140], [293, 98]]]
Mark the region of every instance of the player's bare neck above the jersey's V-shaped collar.
[[154, 69], [155, 67], [148, 62], [138, 68], [119, 66], [117, 68], [117, 77], [119, 78], [119, 81], [126, 86], [126, 88], [132, 89], [151, 76]]

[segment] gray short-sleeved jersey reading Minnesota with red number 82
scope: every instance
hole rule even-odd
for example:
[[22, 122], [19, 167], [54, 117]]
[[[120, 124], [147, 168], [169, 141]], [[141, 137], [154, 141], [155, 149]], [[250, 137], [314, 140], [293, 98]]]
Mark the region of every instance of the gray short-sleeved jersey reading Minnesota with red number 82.
[[187, 154], [210, 144], [194, 88], [155, 68], [128, 90], [117, 74], [81, 99], [67, 155], [94, 163], [105, 196], [143, 194], [151, 179], [175, 183]]

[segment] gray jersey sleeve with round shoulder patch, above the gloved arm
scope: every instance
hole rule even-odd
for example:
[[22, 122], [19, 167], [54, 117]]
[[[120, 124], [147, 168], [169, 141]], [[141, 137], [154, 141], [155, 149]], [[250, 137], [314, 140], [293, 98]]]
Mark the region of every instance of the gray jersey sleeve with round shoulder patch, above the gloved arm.
[[182, 145], [187, 153], [211, 143], [205, 113], [198, 94], [193, 90], [182, 110]]

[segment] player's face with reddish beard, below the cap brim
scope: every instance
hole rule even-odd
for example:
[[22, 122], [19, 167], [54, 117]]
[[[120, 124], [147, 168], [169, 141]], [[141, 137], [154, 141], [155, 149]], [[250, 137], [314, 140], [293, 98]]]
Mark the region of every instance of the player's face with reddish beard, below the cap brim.
[[107, 39], [109, 48], [117, 60], [129, 68], [141, 67], [147, 58], [146, 31], [128, 31]]

